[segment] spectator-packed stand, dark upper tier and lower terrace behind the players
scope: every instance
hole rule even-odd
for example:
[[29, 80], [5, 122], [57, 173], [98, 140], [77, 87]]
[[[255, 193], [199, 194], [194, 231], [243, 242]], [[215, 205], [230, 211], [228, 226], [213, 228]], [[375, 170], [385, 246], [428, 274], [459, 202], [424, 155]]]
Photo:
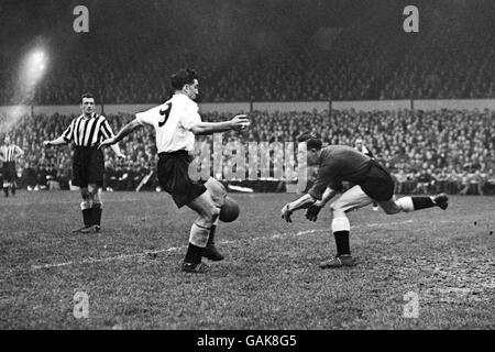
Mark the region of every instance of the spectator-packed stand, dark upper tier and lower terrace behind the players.
[[[84, 35], [67, 35], [62, 22], [50, 21], [72, 13], [77, 1], [46, 1], [36, 11], [29, 1], [2, 3], [0, 106], [74, 105], [85, 91], [94, 92], [98, 103], [157, 103], [170, 94], [169, 74], [186, 66], [200, 73], [204, 102], [495, 98], [493, 1], [418, 0], [418, 7], [430, 10], [421, 15], [425, 35], [402, 31], [397, 1], [355, 9], [338, 0], [273, 1], [263, 16], [254, 3], [152, 1], [136, 13], [135, 0], [109, 0], [91, 12], [98, 25]], [[89, 8], [95, 4], [87, 1]], [[279, 16], [280, 6], [292, 11]], [[165, 20], [164, 13], [169, 14]], [[52, 48], [50, 64], [40, 85], [21, 94], [19, 59], [34, 44]], [[248, 133], [226, 133], [224, 143], [294, 141], [309, 125], [324, 143], [364, 138], [394, 172], [399, 193], [494, 193], [495, 127], [488, 110], [253, 116]], [[45, 151], [41, 142], [59, 135], [72, 118], [24, 117], [8, 131], [26, 152], [18, 163], [23, 187], [69, 188], [72, 150]], [[129, 119], [109, 117], [114, 131]], [[125, 165], [107, 154], [108, 189], [133, 189], [153, 169], [152, 133], [142, 130], [123, 144], [130, 156]], [[152, 179], [144, 189], [154, 187]]]

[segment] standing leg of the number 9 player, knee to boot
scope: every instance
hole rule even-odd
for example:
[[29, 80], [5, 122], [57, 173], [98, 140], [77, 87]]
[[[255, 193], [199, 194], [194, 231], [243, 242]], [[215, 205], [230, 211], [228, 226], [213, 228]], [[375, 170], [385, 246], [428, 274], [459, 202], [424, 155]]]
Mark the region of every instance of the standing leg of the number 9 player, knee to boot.
[[189, 245], [183, 263], [183, 271], [188, 273], [206, 273], [208, 265], [201, 263], [205, 248], [208, 244], [211, 226], [219, 216], [211, 194], [207, 190], [187, 205], [198, 213], [198, 218], [190, 229]]

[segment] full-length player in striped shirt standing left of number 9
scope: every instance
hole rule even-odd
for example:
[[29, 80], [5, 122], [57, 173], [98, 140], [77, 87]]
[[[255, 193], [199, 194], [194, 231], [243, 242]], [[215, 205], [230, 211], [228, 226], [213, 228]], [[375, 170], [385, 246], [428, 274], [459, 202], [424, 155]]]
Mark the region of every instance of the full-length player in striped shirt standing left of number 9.
[[[81, 97], [82, 114], [74, 119], [65, 132], [43, 145], [65, 145], [74, 142], [76, 148], [73, 160], [73, 185], [79, 186], [82, 202], [84, 227], [75, 232], [90, 233], [100, 231], [102, 205], [98, 190], [103, 184], [103, 153], [98, 150], [101, 141], [112, 138], [113, 132], [105, 117], [95, 112], [95, 98], [90, 94]], [[118, 145], [112, 145], [118, 157], [125, 157]]]

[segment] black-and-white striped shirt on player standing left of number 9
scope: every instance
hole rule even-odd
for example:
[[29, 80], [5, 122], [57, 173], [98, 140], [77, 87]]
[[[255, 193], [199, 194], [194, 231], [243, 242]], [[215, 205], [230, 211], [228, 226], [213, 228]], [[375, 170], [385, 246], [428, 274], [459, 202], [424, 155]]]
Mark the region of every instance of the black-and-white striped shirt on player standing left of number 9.
[[113, 136], [113, 132], [105, 117], [92, 113], [90, 118], [81, 114], [74, 119], [62, 136], [67, 142], [74, 141], [77, 146], [98, 146], [101, 141]]

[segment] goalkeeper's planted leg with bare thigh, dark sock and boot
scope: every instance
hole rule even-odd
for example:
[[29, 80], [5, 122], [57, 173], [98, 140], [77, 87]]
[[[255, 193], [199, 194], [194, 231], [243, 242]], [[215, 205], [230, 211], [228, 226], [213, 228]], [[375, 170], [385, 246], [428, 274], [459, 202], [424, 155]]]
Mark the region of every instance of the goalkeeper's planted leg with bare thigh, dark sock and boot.
[[360, 186], [354, 186], [342, 194], [331, 206], [332, 211], [332, 232], [336, 239], [337, 255], [328, 261], [321, 262], [321, 268], [336, 268], [342, 266], [353, 266], [354, 258], [351, 256], [351, 248], [349, 243], [349, 235], [351, 232], [351, 224], [345, 215], [352, 209], [363, 208], [373, 202], [373, 199], [367, 196]]

